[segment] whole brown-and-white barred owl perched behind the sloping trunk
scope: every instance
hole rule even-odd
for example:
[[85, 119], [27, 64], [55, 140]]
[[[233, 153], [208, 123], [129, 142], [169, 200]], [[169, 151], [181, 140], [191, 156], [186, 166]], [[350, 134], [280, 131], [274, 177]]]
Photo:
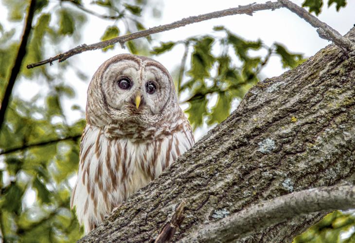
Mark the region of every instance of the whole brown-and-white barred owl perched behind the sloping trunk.
[[195, 141], [169, 72], [143, 56], [120, 54], [100, 66], [86, 120], [71, 208], [87, 233]]

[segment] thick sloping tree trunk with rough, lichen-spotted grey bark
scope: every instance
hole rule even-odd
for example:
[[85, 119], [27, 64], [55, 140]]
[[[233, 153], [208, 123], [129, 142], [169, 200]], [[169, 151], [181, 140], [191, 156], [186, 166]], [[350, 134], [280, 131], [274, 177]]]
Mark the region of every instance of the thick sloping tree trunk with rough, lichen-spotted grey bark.
[[[347, 37], [355, 38], [355, 28]], [[173, 238], [178, 241], [268, 199], [353, 184], [354, 164], [355, 56], [332, 44], [252, 87], [226, 121], [80, 241], [154, 240], [184, 200], [185, 218]], [[324, 215], [299, 216], [228, 240], [291, 242]]]

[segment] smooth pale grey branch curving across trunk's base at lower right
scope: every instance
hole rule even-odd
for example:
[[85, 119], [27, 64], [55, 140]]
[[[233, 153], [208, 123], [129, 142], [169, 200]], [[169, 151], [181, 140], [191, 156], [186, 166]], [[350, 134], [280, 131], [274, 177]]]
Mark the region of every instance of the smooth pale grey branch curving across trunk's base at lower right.
[[355, 187], [321, 187], [293, 192], [203, 226], [182, 242], [227, 242], [299, 215], [355, 207]]

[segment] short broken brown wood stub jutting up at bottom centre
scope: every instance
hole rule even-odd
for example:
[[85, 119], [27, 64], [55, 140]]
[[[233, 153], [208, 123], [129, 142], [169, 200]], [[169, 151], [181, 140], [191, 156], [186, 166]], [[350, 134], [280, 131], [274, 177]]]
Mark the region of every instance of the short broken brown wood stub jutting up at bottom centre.
[[158, 235], [157, 239], [154, 243], [164, 243], [164, 242], [171, 242], [173, 239], [174, 234], [177, 228], [181, 225], [182, 221], [184, 220], [184, 208], [185, 208], [185, 201], [182, 201], [180, 205], [175, 210], [173, 217], [171, 218], [170, 222], [168, 222], [162, 229], [160, 234]]

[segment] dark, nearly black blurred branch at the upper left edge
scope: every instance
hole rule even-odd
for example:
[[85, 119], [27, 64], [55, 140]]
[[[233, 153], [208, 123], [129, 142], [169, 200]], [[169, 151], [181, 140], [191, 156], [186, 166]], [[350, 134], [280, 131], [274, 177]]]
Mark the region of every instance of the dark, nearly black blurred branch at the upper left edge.
[[12, 89], [14, 88], [16, 78], [17, 78], [18, 73], [20, 71], [22, 60], [23, 60], [24, 56], [26, 55], [27, 41], [28, 41], [28, 38], [31, 33], [32, 20], [33, 20], [34, 14], [35, 14], [35, 2], [36, 2], [36, 0], [31, 0], [31, 2], [30, 2], [30, 6], [29, 6], [28, 12], [27, 12], [27, 17], [25, 20], [25, 27], [23, 30], [20, 46], [18, 48], [18, 53], [16, 56], [15, 64], [11, 70], [11, 74], [9, 77], [9, 81], [7, 83], [4, 98], [2, 99], [2, 102], [1, 102], [0, 129], [1, 129], [2, 123], [5, 119], [5, 112], [6, 112], [7, 106], [9, 105]]

